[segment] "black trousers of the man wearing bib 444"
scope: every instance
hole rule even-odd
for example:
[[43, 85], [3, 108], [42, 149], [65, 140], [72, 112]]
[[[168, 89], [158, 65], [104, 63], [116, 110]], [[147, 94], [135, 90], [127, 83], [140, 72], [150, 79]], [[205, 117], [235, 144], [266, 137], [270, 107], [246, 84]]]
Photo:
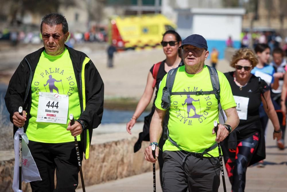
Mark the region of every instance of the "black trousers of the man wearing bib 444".
[[[81, 142], [78, 142], [81, 149]], [[74, 142], [42, 143], [29, 141], [28, 147], [42, 181], [30, 182], [33, 192], [75, 192], [78, 186], [78, 161]], [[80, 151], [81, 160], [83, 153]], [[56, 170], [57, 185], [54, 175]]]

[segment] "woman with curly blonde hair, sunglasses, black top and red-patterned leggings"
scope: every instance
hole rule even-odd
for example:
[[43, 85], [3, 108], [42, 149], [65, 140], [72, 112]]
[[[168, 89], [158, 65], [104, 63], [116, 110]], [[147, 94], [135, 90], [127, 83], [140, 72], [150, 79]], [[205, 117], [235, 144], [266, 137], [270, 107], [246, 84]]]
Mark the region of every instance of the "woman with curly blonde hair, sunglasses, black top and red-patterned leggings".
[[269, 86], [251, 74], [251, 69], [257, 63], [257, 57], [250, 49], [240, 49], [233, 55], [230, 64], [235, 71], [224, 74], [230, 83], [240, 119], [237, 128], [222, 142], [225, 167], [233, 192], [244, 191], [247, 167], [265, 158], [264, 132], [261, 131], [258, 110], [261, 101], [274, 126], [273, 139], [279, 140], [282, 135]]

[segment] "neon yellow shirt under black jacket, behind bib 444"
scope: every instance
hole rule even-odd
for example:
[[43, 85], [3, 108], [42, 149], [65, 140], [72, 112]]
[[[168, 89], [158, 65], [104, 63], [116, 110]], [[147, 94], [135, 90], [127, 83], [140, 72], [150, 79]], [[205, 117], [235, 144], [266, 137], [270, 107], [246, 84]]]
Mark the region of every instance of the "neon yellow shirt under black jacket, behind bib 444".
[[[31, 118], [26, 131], [28, 139], [44, 143], [74, 141], [71, 132], [66, 130], [70, 121], [68, 116], [72, 113], [75, 119], [79, 118], [81, 109], [75, 73], [67, 48], [58, 56], [51, 56], [45, 51], [42, 52], [32, 80], [31, 92]], [[52, 92], [69, 96], [67, 124], [36, 122], [39, 92]], [[77, 136], [77, 140], [80, 140], [80, 136]]]

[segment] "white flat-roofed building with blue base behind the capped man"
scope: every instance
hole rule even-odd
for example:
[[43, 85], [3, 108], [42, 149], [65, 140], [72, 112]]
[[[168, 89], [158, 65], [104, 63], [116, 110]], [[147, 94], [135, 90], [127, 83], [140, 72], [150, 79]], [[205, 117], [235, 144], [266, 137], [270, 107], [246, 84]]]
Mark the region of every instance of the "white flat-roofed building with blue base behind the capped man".
[[245, 9], [177, 9], [177, 31], [184, 39], [191, 34], [202, 35], [209, 51], [215, 47], [224, 58], [226, 40], [231, 37], [233, 47], [240, 48], [242, 31], [242, 15]]

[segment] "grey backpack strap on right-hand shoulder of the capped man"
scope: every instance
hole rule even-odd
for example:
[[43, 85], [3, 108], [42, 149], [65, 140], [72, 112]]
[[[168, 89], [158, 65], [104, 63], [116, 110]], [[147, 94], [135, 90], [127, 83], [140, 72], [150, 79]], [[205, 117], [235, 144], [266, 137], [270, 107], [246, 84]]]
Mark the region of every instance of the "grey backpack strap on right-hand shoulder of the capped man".
[[216, 91], [216, 94], [214, 94], [214, 95], [215, 95], [215, 97], [217, 99], [217, 103], [218, 103], [218, 116], [219, 116], [220, 122], [223, 121], [225, 123], [224, 113], [223, 113], [221, 103], [220, 103], [220, 83], [219, 83], [218, 73], [217, 73], [216, 69], [212, 66], [207, 65], [207, 68], [209, 70], [212, 88], [214, 91]]

